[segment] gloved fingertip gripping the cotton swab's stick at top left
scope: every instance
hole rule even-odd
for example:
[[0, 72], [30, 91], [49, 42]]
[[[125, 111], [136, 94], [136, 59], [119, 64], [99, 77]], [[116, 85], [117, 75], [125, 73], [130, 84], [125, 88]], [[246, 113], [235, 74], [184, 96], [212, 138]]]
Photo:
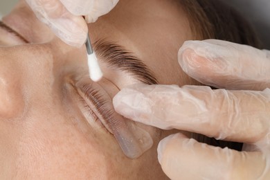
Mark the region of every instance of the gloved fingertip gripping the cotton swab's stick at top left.
[[71, 46], [82, 46], [87, 39], [87, 24], [80, 16], [72, 15], [58, 0], [26, 0], [37, 18], [53, 33]]

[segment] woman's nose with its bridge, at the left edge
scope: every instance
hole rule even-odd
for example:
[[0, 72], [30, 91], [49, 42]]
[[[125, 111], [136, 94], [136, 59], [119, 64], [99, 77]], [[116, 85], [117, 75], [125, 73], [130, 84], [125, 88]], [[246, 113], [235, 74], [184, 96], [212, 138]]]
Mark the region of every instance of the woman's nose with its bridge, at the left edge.
[[58, 40], [0, 47], [0, 119], [21, 116], [42, 102], [53, 103], [65, 69], [71, 71], [80, 62], [87, 62], [85, 47], [73, 48]]

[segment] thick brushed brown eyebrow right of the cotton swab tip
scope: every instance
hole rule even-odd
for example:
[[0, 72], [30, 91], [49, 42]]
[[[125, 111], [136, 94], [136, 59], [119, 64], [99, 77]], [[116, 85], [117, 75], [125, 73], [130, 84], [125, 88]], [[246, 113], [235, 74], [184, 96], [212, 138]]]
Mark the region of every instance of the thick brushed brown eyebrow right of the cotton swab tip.
[[99, 39], [93, 44], [93, 48], [96, 55], [101, 57], [100, 60], [107, 63], [109, 67], [125, 71], [145, 84], [158, 84], [154, 73], [147, 65], [123, 46]]

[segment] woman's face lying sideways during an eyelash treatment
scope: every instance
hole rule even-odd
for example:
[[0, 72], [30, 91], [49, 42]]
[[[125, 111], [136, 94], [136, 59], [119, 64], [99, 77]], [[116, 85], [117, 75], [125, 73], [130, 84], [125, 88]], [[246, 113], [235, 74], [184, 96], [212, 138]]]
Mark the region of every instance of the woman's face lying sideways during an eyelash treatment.
[[[98, 86], [95, 90], [106, 92], [110, 102], [128, 84], [152, 82], [150, 74], [160, 84], [195, 83], [177, 63], [179, 47], [192, 39], [188, 19], [177, 3], [120, 1], [108, 15], [89, 24], [104, 74], [98, 84], [86, 78], [85, 46], [73, 48], [54, 37], [24, 1], [3, 22], [30, 44], [1, 26], [0, 179], [165, 178], [156, 145], [170, 132], [136, 123], [154, 144], [137, 159], [127, 158], [89, 110], [91, 100], [85, 101], [80, 86], [89, 91]], [[129, 64], [132, 60], [116, 52], [116, 47], [141, 60], [150, 74]]]

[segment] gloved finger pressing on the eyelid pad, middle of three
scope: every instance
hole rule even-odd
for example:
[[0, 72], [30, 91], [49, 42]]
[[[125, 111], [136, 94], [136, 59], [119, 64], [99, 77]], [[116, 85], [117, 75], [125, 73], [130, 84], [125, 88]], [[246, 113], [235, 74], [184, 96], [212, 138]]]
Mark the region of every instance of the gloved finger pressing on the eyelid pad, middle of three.
[[161, 129], [243, 143], [255, 143], [269, 133], [270, 89], [226, 91], [136, 84], [122, 89], [113, 102], [126, 118]]

